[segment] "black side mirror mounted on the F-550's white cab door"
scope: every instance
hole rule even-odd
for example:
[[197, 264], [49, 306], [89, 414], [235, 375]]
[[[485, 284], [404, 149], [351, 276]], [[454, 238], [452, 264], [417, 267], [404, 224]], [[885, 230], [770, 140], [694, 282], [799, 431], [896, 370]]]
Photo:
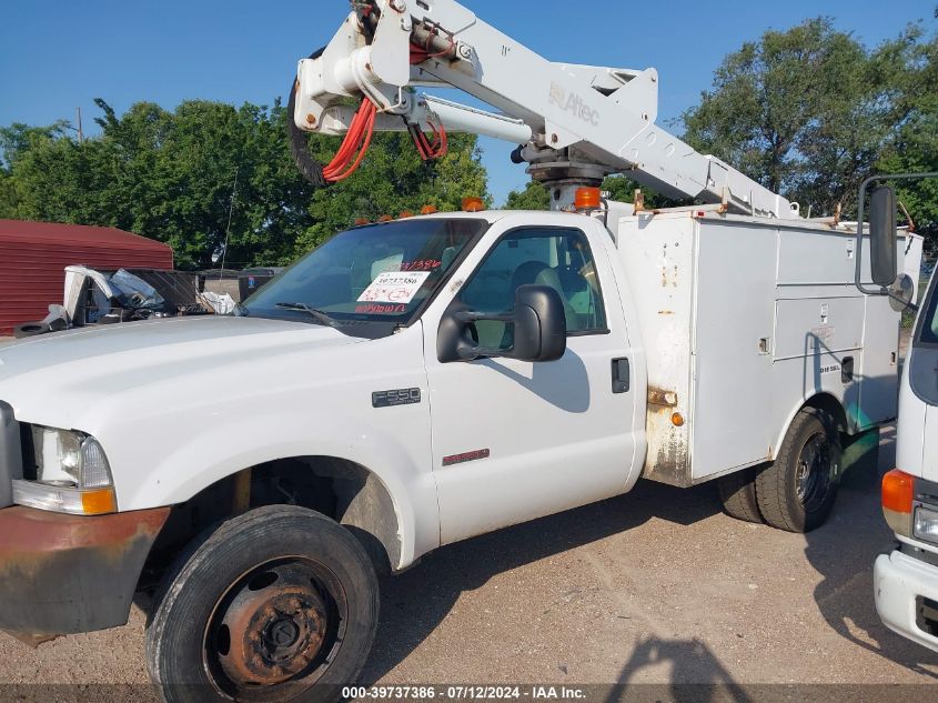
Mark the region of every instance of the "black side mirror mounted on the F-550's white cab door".
[[[472, 335], [472, 325], [482, 320], [513, 325], [514, 344], [508, 349], [478, 347]], [[440, 321], [436, 358], [441, 363], [483, 356], [555, 361], [566, 351], [566, 313], [557, 291], [549, 285], [522, 285], [515, 293], [512, 312], [475, 312], [462, 301], [454, 301]]]

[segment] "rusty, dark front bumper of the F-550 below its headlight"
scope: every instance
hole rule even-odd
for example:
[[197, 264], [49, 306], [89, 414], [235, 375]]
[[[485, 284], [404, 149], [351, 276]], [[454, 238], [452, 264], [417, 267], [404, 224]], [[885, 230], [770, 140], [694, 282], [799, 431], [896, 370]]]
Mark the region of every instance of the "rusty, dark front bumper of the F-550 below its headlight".
[[0, 510], [0, 630], [38, 644], [127, 622], [169, 508], [100, 516]]

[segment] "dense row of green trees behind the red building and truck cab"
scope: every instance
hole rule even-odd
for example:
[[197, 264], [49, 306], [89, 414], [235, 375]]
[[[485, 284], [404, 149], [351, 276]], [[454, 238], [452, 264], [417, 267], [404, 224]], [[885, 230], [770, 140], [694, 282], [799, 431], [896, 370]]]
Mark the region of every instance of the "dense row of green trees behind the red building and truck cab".
[[[172, 245], [179, 268], [290, 263], [356, 218], [424, 204], [456, 210], [487, 198], [476, 139], [423, 162], [405, 134], [377, 134], [353, 178], [314, 191], [290, 155], [286, 110], [190, 100], [118, 116], [98, 100], [100, 135], [78, 143], [68, 124], [0, 131], [0, 215], [102, 224]], [[313, 137], [322, 161], [339, 139]], [[229, 214], [231, 225], [229, 232]]]

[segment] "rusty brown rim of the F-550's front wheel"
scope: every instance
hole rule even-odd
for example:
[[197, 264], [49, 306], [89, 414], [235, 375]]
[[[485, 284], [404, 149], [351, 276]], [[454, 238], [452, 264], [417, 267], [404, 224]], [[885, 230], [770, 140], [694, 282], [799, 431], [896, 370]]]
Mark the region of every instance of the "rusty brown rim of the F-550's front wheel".
[[262, 701], [285, 686], [299, 693], [335, 659], [346, 616], [344, 590], [329, 569], [299, 556], [265, 562], [219, 599], [205, 629], [206, 673], [238, 700]]

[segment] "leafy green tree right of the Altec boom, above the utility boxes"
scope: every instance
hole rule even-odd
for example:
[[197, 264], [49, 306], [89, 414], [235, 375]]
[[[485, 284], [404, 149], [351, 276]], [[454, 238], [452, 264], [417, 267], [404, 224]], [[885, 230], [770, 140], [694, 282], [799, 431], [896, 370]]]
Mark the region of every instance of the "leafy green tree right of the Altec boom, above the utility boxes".
[[908, 116], [920, 39], [911, 27], [870, 51], [827, 18], [767, 31], [726, 57], [683, 116], [686, 139], [814, 214], [853, 208]]

